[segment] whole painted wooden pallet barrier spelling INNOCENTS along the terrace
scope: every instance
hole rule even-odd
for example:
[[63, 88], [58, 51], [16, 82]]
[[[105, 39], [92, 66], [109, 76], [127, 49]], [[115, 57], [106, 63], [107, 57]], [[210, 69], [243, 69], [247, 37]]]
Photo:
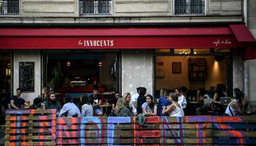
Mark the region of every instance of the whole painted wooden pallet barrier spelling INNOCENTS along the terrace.
[[146, 117], [146, 127], [136, 120], [7, 110], [6, 145], [256, 145], [256, 117]]

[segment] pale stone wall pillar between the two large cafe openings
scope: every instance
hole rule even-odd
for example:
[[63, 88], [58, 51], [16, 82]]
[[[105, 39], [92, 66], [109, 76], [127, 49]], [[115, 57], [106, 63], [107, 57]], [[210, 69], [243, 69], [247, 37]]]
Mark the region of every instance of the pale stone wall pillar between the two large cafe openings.
[[122, 94], [135, 94], [136, 88], [143, 86], [146, 94], [153, 92], [153, 55], [152, 49], [122, 49], [121, 89]]

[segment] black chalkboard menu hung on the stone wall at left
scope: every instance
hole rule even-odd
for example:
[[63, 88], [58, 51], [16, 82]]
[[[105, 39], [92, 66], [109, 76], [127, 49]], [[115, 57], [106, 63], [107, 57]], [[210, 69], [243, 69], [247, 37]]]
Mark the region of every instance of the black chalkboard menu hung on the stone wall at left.
[[19, 63], [19, 87], [23, 92], [34, 92], [35, 88], [35, 63]]

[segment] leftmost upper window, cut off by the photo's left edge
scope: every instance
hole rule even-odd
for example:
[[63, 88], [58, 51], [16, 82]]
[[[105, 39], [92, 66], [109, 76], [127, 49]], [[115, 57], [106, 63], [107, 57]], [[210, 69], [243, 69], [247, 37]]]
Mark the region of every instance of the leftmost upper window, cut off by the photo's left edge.
[[18, 15], [18, 0], [0, 0], [0, 15]]

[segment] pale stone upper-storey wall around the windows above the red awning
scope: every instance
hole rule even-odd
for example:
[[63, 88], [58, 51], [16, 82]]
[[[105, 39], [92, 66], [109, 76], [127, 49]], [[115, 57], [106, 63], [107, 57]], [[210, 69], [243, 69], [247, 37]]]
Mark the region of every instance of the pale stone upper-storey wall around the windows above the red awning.
[[20, 0], [20, 15], [0, 23], [201, 23], [243, 21], [243, 0], [207, 0], [202, 15], [174, 15], [174, 0], [112, 0], [110, 15], [79, 14], [79, 0]]

